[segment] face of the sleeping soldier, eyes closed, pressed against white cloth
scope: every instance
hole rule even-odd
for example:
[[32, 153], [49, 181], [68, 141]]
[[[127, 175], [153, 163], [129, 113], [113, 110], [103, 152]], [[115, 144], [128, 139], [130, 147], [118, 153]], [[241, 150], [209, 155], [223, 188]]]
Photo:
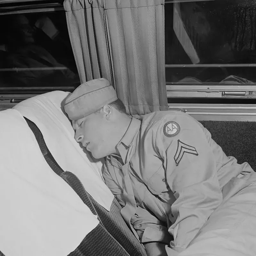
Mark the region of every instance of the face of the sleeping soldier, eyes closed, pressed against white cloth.
[[109, 138], [107, 120], [101, 113], [92, 113], [89, 116], [73, 121], [75, 139], [92, 153], [96, 159], [113, 153], [113, 145]]

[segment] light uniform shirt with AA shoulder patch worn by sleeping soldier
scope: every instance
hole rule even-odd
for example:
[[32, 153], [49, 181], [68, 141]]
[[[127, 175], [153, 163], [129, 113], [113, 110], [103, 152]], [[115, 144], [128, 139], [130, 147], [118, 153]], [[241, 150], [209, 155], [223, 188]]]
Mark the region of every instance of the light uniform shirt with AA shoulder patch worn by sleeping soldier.
[[[248, 163], [226, 156], [210, 132], [183, 112], [132, 118], [106, 158], [103, 177], [140, 241], [185, 249], [222, 201], [221, 188]], [[171, 236], [171, 235], [172, 236]]]

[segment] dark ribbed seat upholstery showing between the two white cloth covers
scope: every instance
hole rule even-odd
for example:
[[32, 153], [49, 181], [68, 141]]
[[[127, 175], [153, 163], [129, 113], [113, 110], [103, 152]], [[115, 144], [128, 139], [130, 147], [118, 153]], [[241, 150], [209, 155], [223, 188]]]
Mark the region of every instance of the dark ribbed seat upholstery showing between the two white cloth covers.
[[[100, 224], [93, 229], [70, 256], [146, 256], [144, 247], [138, 242], [124, 222], [116, 199], [111, 205], [110, 212], [98, 204], [84, 189], [80, 180], [71, 172], [64, 172], [47, 148], [43, 135], [33, 122], [25, 118], [28, 126], [35, 134], [38, 145], [46, 162], [52, 170], [62, 177], [80, 196], [93, 214], [98, 216]], [[99, 212], [98, 212], [99, 211]], [[104, 222], [104, 223], [103, 223]], [[97, 231], [95, 231], [97, 230]], [[97, 247], [97, 248], [96, 248]], [[110, 249], [109, 249], [110, 248]]]

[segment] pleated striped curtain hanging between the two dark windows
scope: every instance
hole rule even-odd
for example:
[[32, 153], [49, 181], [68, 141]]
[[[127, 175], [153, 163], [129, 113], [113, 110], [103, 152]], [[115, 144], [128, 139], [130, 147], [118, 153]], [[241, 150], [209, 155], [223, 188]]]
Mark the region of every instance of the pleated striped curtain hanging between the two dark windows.
[[104, 77], [128, 113], [167, 110], [164, 0], [65, 0], [81, 82]]

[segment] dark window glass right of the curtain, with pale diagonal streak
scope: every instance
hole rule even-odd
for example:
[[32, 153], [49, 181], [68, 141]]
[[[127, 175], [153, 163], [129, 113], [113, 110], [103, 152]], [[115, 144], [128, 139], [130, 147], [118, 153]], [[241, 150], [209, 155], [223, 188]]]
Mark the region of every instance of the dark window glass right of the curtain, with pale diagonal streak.
[[256, 1], [166, 1], [167, 84], [254, 84]]

